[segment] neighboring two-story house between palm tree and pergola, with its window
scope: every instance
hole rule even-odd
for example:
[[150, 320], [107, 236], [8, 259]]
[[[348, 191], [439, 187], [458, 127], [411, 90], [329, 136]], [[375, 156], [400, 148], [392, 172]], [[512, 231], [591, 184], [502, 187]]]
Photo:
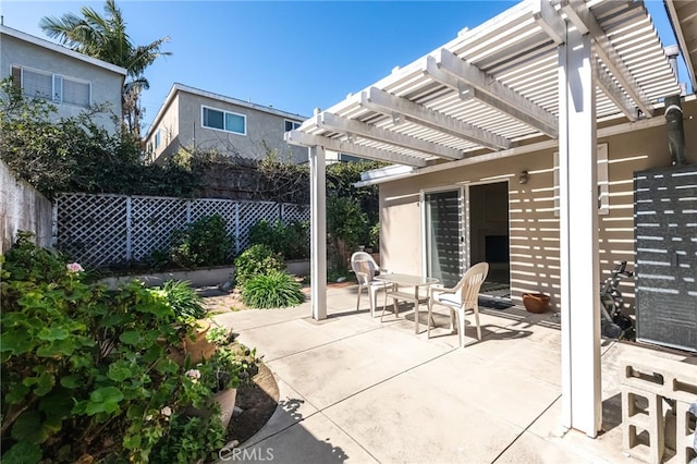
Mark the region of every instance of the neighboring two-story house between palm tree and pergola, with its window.
[[180, 148], [246, 159], [262, 159], [276, 150], [281, 160], [307, 161], [307, 149], [288, 145], [286, 131], [305, 120], [299, 114], [174, 84], [145, 137], [146, 151], [157, 162]]

